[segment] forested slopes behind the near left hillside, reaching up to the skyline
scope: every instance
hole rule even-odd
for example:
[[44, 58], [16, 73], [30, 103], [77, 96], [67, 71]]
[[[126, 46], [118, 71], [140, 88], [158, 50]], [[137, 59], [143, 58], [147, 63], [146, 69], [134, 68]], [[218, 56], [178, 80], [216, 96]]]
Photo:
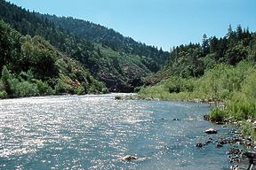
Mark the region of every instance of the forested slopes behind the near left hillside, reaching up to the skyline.
[[170, 55], [89, 21], [29, 12], [4, 0], [0, 0], [0, 9], [0, 19], [20, 35], [43, 37], [104, 81], [109, 91], [133, 91], [142, 85], [143, 76], [158, 71]]

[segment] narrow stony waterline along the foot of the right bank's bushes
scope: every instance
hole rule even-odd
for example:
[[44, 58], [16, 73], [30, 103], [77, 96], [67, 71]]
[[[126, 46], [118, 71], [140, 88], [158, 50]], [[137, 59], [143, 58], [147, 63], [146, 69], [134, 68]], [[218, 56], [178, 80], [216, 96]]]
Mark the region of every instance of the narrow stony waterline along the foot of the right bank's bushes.
[[[160, 99], [160, 98], [153, 98], [153, 97], [140, 97], [140, 95], [136, 94], [134, 96], [122, 96], [122, 97], [115, 97], [115, 100], [148, 100], [148, 101], [171, 101], [171, 102], [191, 102], [196, 104], [209, 104], [209, 106], [215, 107], [225, 107], [224, 102], [220, 100], [205, 100], [205, 99]], [[207, 119], [205, 119], [207, 118]], [[250, 135], [243, 135], [243, 121], [239, 120], [224, 120], [224, 121], [214, 121], [210, 119], [210, 113], [204, 115], [203, 118], [205, 121], [209, 121], [213, 124], [223, 125], [222, 128], [226, 127], [226, 125], [234, 125], [236, 128], [240, 128], [238, 131], [232, 132], [237, 137], [235, 138], [219, 138], [217, 140], [216, 148], [223, 147], [225, 144], [229, 144], [230, 148], [226, 152], [229, 162], [232, 164], [229, 169], [256, 169], [256, 142], [253, 141], [252, 136]], [[256, 125], [256, 120], [244, 120], [248, 123], [252, 123]], [[256, 128], [255, 128], [256, 130]], [[208, 145], [209, 141], [206, 144], [203, 143], [195, 143], [195, 147], [201, 148], [205, 145]], [[211, 142], [212, 143], [212, 142]], [[232, 146], [232, 144], [238, 144], [241, 148], [246, 148], [245, 151], [242, 149], [236, 148], [236, 146]]]

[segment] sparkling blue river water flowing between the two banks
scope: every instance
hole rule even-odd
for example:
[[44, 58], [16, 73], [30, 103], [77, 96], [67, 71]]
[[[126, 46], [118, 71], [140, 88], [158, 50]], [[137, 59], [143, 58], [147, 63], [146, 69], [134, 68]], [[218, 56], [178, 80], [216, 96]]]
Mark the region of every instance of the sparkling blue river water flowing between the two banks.
[[0, 169], [228, 169], [226, 146], [195, 147], [230, 130], [204, 121], [207, 112], [206, 104], [113, 94], [0, 100]]

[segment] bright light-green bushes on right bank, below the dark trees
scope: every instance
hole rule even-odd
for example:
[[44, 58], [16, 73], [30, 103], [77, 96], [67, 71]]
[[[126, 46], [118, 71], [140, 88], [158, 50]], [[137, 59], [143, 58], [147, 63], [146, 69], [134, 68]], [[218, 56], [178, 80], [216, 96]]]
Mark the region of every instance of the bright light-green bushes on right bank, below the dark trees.
[[214, 106], [204, 120], [236, 124], [241, 128], [241, 141], [245, 141], [241, 144], [254, 150], [256, 67], [252, 62], [241, 61], [237, 66], [217, 65], [200, 78], [172, 76], [155, 86], [140, 89], [138, 96], [140, 99], [208, 102]]

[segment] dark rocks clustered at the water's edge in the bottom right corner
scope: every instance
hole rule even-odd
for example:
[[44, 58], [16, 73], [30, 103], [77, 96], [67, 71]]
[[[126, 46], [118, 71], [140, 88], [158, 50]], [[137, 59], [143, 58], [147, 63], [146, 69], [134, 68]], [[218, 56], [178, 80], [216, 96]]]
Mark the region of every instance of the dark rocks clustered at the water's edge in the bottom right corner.
[[[204, 115], [204, 120], [212, 121], [209, 115]], [[203, 148], [208, 144], [215, 144], [215, 148], [219, 149], [224, 145], [228, 145], [226, 153], [229, 162], [232, 164], [230, 169], [256, 170], [256, 143], [252, 140], [252, 136], [243, 135], [241, 130], [242, 121], [226, 120], [225, 122], [212, 122], [223, 124], [222, 128], [226, 128], [227, 124], [233, 124], [237, 126], [237, 129], [229, 132], [232, 137], [220, 137], [216, 141], [213, 141], [212, 137], [210, 137], [205, 143], [196, 143], [196, 147]], [[247, 122], [253, 124], [255, 121], [247, 120]]]

